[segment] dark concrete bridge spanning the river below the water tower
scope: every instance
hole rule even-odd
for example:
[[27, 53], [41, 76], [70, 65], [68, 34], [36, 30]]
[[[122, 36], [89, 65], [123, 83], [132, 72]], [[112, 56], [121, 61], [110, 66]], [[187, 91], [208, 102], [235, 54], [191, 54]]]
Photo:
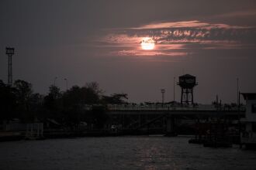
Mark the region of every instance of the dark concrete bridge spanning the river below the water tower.
[[139, 130], [152, 126], [161, 127], [167, 134], [175, 134], [177, 121], [213, 118], [237, 121], [244, 117], [245, 107], [109, 105], [106, 113], [110, 117], [109, 124], [121, 124], [122, 129]]

